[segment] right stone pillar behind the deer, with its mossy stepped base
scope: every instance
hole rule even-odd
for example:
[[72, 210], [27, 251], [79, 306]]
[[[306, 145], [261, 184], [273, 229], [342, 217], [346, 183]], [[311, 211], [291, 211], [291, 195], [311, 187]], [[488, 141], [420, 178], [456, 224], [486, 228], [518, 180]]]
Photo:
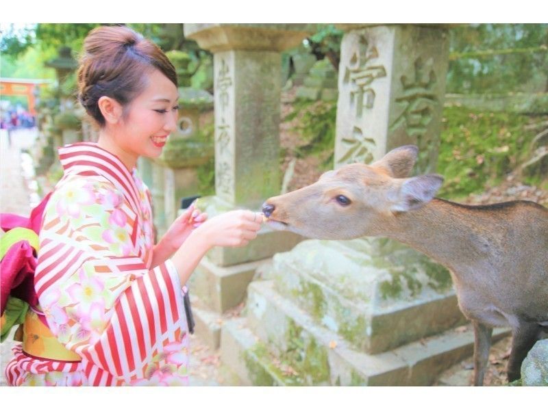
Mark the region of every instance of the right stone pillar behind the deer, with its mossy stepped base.
[[[416, 172], [434, 172], [447, 31], [432, 25], [344, 28], [336, 168], [417, 144]], [[253, 383], [257, 368], [271, 373], [275, 362], [297, 356], [297, 384], [427, 385], [471, 353], [473, 334], [451, 331], [465, 319], [449, 272], [401, 243], [306, 240], [276, 254], [269, 277], [249, 286], [245, 321], [236, 323], [241, 329], [223, 330], [223, 345], [232, 346], [221, 349], [223, 361], [234, 367], [245, 361], [242, 378]]]

